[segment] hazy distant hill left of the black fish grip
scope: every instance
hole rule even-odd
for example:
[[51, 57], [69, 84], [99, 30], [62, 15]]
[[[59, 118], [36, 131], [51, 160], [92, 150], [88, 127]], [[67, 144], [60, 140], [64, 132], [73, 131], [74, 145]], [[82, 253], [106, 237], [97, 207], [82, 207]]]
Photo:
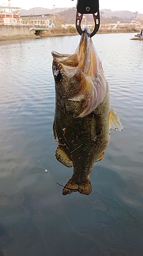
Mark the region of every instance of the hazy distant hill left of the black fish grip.
[[41, 7], [35, 7], [35, 8], [31, 8], [29, 10], [24, 10], [21, 9], [19, 11], [19, 13], [22, 16], [28, 16], [28, 15], [44, 15], [44, 14], [48, 14], [48, 13], [59, 13], [61, 11], [65, 11], [69, 8], [55, 8], [55, 9], [47, 9], [47, 8], [41, 8]]

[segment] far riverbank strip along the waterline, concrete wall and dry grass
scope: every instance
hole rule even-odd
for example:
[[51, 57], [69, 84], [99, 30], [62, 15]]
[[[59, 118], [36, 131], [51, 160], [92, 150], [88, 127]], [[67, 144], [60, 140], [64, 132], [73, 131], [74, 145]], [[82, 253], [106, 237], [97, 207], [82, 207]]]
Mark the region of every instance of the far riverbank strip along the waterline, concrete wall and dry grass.
[[[90, 28], [93, 30], [93, 27]], [[39, 32], [39, 31], [38, 31]], [[108, 33], [134, 33], [140, 32], [135, 31], [133, 26], [126, 25], [101, 25], [98, 34], [108, 34]], [[69, 36], [69, 35], [78, 35], [75, 27], [69, 26], [68, 28], [55, 27], [47, 29], [47, 31], [42, 31], [37, 33], [32, 26], [5, 26], [1, 25], [0, 30], [0, 40], [12, 40], [12, 39], [31, 39], [39, 37], [53, 37], [53, 36]]]

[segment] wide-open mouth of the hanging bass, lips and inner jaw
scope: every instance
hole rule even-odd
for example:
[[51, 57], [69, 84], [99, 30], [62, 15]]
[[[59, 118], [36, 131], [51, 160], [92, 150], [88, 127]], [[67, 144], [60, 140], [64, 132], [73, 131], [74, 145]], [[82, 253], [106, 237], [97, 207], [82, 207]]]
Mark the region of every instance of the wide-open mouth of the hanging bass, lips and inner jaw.
[[74, 54], [62, 54], [56, 51], [52, 51], [51, 54], [53, 60], [60, 63], [64, 72], [69, 76], [71, 76], [69, 72], [71, 68], [77, 69], [79, 67], [85, 75], [90, 75], [91, 77], [98, 75], [97, 66], [101, 61], [93, 45], [88, 27], [83, 28], [79, 45]]

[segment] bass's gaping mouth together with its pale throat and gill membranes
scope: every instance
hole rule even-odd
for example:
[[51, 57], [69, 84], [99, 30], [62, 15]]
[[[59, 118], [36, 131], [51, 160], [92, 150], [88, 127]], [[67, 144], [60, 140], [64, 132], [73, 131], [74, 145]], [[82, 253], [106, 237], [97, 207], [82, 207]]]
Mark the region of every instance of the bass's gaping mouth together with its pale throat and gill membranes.
[[72, 78], [80, 71], [80, 88], [83, 84], [84, 89], [78, 91], [68, 100], [86, 102], [84, 104], [86, 107], [80, 114], [75, 114], [75, 117], [89, 115], [104, 100], [107, 88], [102, 63], [90, 37], [90, 29], [83, 28], [79, 45], [74, 54], [61, 54], [52, 51], [52, 56], [54, 66], [56, 63], [66, 76]]

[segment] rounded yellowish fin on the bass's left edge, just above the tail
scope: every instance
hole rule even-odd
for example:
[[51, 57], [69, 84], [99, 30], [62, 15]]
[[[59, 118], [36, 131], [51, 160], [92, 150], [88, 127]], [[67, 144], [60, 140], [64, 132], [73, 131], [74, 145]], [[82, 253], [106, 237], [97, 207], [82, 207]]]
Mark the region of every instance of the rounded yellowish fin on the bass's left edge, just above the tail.
[[59, 146], [58, 148], [56, 148], [55, 157], [60, 163], [64, 164], [65, 166], [72, 167], [72, 161], [69, 159], [65, 151], [62, 150]]

